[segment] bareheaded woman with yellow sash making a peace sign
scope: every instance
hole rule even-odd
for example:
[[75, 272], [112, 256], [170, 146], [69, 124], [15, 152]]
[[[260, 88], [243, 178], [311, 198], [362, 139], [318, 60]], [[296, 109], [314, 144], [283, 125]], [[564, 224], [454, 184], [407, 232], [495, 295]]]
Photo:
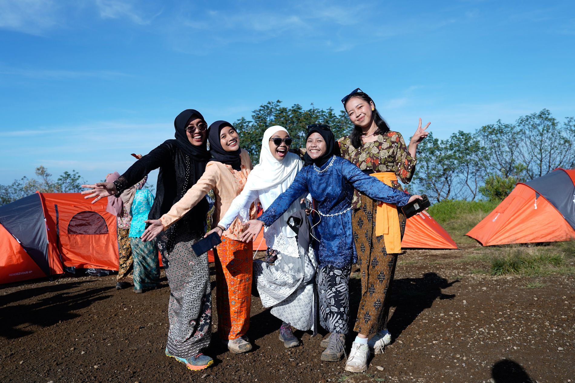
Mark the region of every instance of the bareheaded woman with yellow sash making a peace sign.
[[[397, 131], [391, 131], [375, 109], [375, 103], [359, 88], [342, 99], [354, 129], [350, 136], [339, 140], [342, 157], [362, 172], [402, 190], [397, 180], [407, 184], [413, 177], [417, 145], [429, 134], [419, 126], [409, 146]], [[391, 343], [388, 314], [390, 288], [396, 268], [397, 254], [405, 231], [405, 215], [394, 204], [381, 204], [362, 191], [356, 190], [352, 201], [352, 226], [358, 265], [362, 269], [362, 297], [346, 370], [365, 370], [369, 352], [381, 353]], [[427, 214], [427, 213], [425, 213]], [[371, 223], [375, 222], [375, 225]], [[375, 334], [370, 341], [367, 336]]]

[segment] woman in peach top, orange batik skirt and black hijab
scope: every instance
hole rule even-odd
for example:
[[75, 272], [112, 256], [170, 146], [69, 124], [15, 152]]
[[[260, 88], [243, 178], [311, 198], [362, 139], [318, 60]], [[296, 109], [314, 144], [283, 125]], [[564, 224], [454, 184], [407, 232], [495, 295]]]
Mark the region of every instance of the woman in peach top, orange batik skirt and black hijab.
[[[150, 226], [142, 239], [151, 241], [156, 235], [177, 225], [178, 220], [204, 200], [213, 189], [216, 196], [213, 225], [228, 211], [232, 200], [241, 192], [252, 169], [250, 155], [240, 149], [240, 138], [231, 123], [216, 121], [209, 127], [208, 141], [212, 158], [204, 175], [160, 219], [148, 220]], [[251, 216], [255, 216], [255, 208]], [[252, 244], [239, 240], [243, 233], [236, 219], [217, 245], [216, 306], [218, 334], [233, 353], [245, 353], [252, 345], [245, 335], [250, 327]]]

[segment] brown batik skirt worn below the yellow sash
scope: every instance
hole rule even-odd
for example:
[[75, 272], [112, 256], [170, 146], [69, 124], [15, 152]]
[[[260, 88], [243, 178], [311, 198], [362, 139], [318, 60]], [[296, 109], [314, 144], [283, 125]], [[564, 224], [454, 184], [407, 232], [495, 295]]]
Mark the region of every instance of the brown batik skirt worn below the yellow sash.
[[[362, 208], [352, 213], [358, 266], [361, 268], [362, 296], [354, 331], [369, 335], [388, 327], [389, 299], [397, 254], [388, 254], [383, 236], [375, 236], [377, 202], [361, 195]], [[399, 212], [401, 238], [405, 232], [405, 215]]]

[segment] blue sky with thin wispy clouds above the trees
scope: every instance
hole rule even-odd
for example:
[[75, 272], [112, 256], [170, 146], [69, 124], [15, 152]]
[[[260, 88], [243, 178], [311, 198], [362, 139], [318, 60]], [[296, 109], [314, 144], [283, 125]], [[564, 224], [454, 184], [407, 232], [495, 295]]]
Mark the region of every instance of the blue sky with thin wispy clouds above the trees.
[[340, 110], [356, 87], [406, 137], [419, 117], [446, 138], [573, 116], [574, 4], [0, 0], [0, 184], [38, 165], [122, 172], [183, 109]]

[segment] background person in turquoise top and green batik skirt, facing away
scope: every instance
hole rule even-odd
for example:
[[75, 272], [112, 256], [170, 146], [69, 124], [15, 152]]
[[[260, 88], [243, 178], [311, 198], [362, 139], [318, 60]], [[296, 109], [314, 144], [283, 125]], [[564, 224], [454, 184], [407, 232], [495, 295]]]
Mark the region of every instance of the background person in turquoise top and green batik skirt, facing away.
[[134, 292], [141, 293], [153, 289], [159, 284], [160, 262], [156, 241], [143, 242], [140, 236], [144, 234], [145, 220], [154, 204], [154, 195], [144, 185], [136, 186], [136, 195], [132, 201], [132, 222], [130, 224], [130, 246], [134, 264]]

